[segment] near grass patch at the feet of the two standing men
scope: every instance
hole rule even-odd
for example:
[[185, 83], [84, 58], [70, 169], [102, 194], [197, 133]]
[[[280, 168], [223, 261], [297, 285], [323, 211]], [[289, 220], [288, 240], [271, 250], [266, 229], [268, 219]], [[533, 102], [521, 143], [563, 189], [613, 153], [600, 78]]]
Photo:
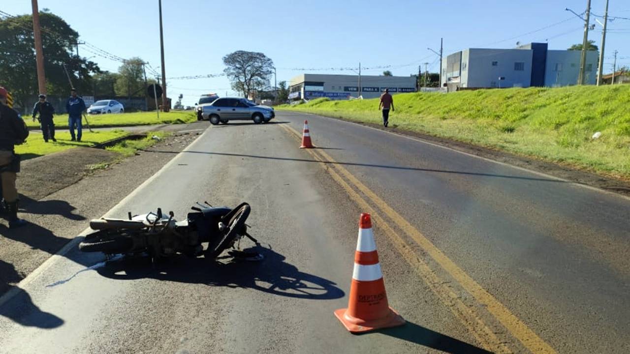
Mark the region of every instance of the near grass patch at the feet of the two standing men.
[[118, 137], [127, 135], [127, 132], [123, 130], [112, 130], [103, 132], [89, 132], [83, 131], [83, 137], [81, 142], [71, 141], [70, 133], [68, 132], [56, 132], [55, 138], [57, 142], [44, 142], [41, 134], [31, 133], [26, 139], [26, 142], [22, 145], [15, 147], [16, 154], [20, 154], [22, 159], [32, 159], [42, 155], [52, 154], [53, 152], [64, 151], [67, 149], [73, 149], [79, 146], [95, 146], [101, 142], [112, 140]]

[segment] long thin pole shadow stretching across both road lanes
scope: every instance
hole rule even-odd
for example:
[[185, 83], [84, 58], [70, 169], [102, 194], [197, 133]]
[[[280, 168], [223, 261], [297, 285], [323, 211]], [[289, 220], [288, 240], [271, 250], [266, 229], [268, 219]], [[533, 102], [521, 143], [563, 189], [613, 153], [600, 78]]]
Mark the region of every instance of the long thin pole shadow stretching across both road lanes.
[[[324, 148], [319, 148], [324, 149]], [[329, 148], [331, 149], [331, 148]], [[209, 154], [209, 155], [219, 155], [219, 156], [234, 156], [234, 157], [251, 157], [253, 159], [270, 159], [270, 160], [279, 160], [279, 161], [298, 161], [304, 163], [321, 163], [321, 161], [311, 160], [311, 159], [293, 159], [290, 157], [275, 157], [275, 156], [260, 156], [260, 155], [249, 155], [249, 154], [230, 154], [227, 152], [207, 152], [207, 151], [182, 151], [188, 154]], [[343, 162], [328, 162], [324, 161], [326, 164], [339, 164], [345, 166], [362, 166], [362, 167], [374, 167], [374, 168], [388, 168], [388, 169], [401, 169], [404, 171], [420, 171], [420, 172], [433, 172], [433, 173], [449, 173], [449, 174], [464, 174], [467, 176], [481, 176], [481, 177], [496, 177], [496, 178], [513, 178], [515, 180], [529, 180], [529, 181], [543, 181], [543, 182], [556, 182], [556, 183], [566, 183], [562, 180], [553, 180], [551, 178], [535, 178], [535, 177], [523, 177], [523, 176], [508, 176], [507, 174], [493, 174], [493, 173], [478, 173], [478, 172], [466, 172], [466, 171], [449, 171], [445, 169], [431, 169], [431, 168], [415, 168], [415, 167], [404, 167], [404, 166], [388, 166], [381, 164], [361, 164], [361, 163], [343, 163]]]

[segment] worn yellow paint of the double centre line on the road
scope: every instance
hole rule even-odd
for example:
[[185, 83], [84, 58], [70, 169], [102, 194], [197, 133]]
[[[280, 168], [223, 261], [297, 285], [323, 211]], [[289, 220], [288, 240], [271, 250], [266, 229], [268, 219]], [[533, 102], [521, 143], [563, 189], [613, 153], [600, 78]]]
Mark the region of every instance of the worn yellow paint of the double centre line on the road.
[[[282, 125], [282, 128], [287, 130], [287, 132], [294, 135], [298, 139], [301, 136], [292, 127], [285, 127], [285, 125]], [[537, 334], [534, 333], [534, 331], [532, 331], [529, 327], [527, 327], [525, 323], [520, 321], [518, 317], [512, 314], [512, 312], [509, 309], [507, 309], [505, 305], [501, 304], [501, 302], [496, 300], [496, 298], [493, 297], [493, 295], [491, 295], [487, 290], [481, 287], [481, 285], [475, 282], [473, 278], [471, 278], [469, 275], [466, 274], [466, 272], [464, 272], [464, 270], [459, 268], [459, 266], [457, 266], [452, 260], [450, 260], [450, 258], [448, 258], [444, 253], [442, 253], [440, 249], [438, 249], [435, 245], [433, 245], [433, 243], [429, 241], [427, 237], [421, 234], [420, 231], [418, 231], [415, 227], [413, 227], [406, 219], [404, 219], [400, 214], [398, 214], [398, 212], [396, 212], [393, 208], [389, 207], [389, 205], [387, 205], [387, 203], [384, 202], [382, 198], [378, 197], [372, 190], [370, 190], [369, 188], [367, 188], [367, 186], [365, 186], [363, 183], [357, 180], [357, 178], [355, 178], [353, 174], [348, 172], [347, 169], [345, 169], [343, 166], [338, 164], [335, 161], [335, 159], [333, 159], [331, 156], [326, 154], [326, 152], [321, 151], [321, 150], [317, 151], [317, 153], [310, 150], [307, 150], [307, 152], [309, 152], [309, 154], [311, 154], [312, 156], [316, 157], [318, 161], [323, 161], [324, 164], [329, 163], [329, 164], [326, 164], [326, 166], [330, 166], [332, 168], [327, 169], [327, 171], [331, 174], [331, 176], [333, 176], [333, 179], [335, 179], [338, 183], [340, 183], [340, 185], [342, 185], [342, 187], [348, 192], [348, 194], [350, 194], [350, 196], [353, 197], [353, 200], [355, 200], [355, 202], [357, 202], [359, 205], [362, 205], [362, 207], [366, 207], [366, 206], [369, 207], [367, 202], [365, 202], [365, 200], [361, 198], [357, 192], [355, 192], [352, 188], [350, 188], [350, 186], [348, 186], [347, 184], [345, 184], [345, 186], [343, 185], [345, 181], [343, 180], [343, 178], [341, 178], [341, 176], [339, 176], [339, 174], [336, 174], [336, 172], [333, 171], [333, 169], [338, 170], [343, 176], [345, 176], [345, 178], [350, 182], [350, 184], [354, 185], [355, 188], [357, 188], [361, 193], [365, 195], [365, 197], [369, 198], [369, 200], [371, 200], [375, 205], [377, 205], [377, 207], [384, 214], [386, 214], [387, 217], [389, 217], [389, 219], [392, 220], [392, 222], [394, 222], [398, 227], [400, 227], [404, 232], [406, 232], [406, 234], [408, 234], [408, 236], [410, 236], [411, 239], [413, 239], [429, 256], [431, 256], [431, 258], [435, 262], [437, 262], [438, 265], [440, 265], [445, 271], [447, 271], [447, 273], [449, 273], [449, 275], [453, 277], [455, 281], [459, 283], [459, 285], [461, 285], [461, 287], [463, 287], [467, 292], [473, 295], [473, 297], [479, 302], [479, 304], [484, 305], [487, 311], [490, 312], [503, 326], [505, 326], [505, 328], [512, 334], [512, 336], [517, 338], [525, 346], [525, 348], [532, 351], [532, 353], [556, 353], [556, 351], [553, 348], [551, 348], [551, 346], [549, 346], [544, 340], [542, 340], [542, 338], [537, 336]], [[318, 154], [321, 154], [321, 156], [323, 156], [323, 159], [319, 158]], [[335, 174], [338, 178], [335, 177]], [[346, 188], [346, 186], [349, 188], [349, 190], [348, 188]], [[379, 217], [379, 219], [381, 218]], [[391, 229], [389, 226], [387, 226], [384, 220], [381, 219], [381, 221], [382, 221], [382, 224], [386, 226], [384, 227], [386, 231], [387, 229]], [[388, 236], [390, 236], [392, 243], [394, 243], [394, 245], [399, 249], [399, 251], [401, 248], [405, 249], [405, 251], [401, 252], [401, 254], [404, 256], [404, 258], [406, 258], [406, 260], [408, 261], [408, 263], [410, 263], [410, 265], [412, 266], [415, 265], [416, 269], [419, 268], [419, 271], [421, 275], [423, 275], [425, 282], [429, 284], [433, 283], [431, 279], [432, 277], [427, 278], [427, 275], [429, 273], [425, 274], [425, 272], [423, 271], [425, 270], [423, 266], [427, 266], [427, 264], [424, 262], [422, 262], [423, 264], [411, 263], [410, 259], [408, 259], [408, 256], [411, 257], [411, 261], [413, 260], [420, 261], [420, 260], [415, 254], [413, 254], [413, 251], [409, 250], [409, 246], [406, 245], [403, 239], [399, 237], [393, 230], [391, 232], [387, 231], [387, 234]], [[433, 271], [430, 270], [428, 266], [427, 268], [430, 271], [430, 273], [435, 275], [435, 273], [433, 273]], [[437, 277], [437, 275], [435, 275], [435, 277]], [[431, 288], [433, 290], [433, 287]], [[447, 290], [447, 291], [450, 292], [450, 290]], [[442, 299], [442, 296], [438, 294], [439, 292], [442, 292], [442, 291], [437, 291], [436, 294], [438, 295], [438, 297], [440, 297], [440, 299]], [[449, 307], [451, 309], [454, 309], [454, 307], [452, 306], [449, 306]], [[474, 335], [478, 339], [479, 339], [479, 336], [483, 333], [488, 333], [488, 332], [492, 333], [492, 331], [488, 328], [488, 326], [486, 326], [486, 324], [484, 324], [483, 321], [479, 319], [478, 316], [475, 315], [475, 317], [476, 317], [476, 323], [482, 327], [481, 330], [475, 329], [473, 331]], [[467, 325], [467, 328], [469, 328], [469, 325], [473, 324], [469, 322], [468, 317], [462, 318], [460, 316], [460, 319], [462, 320], [462, 322], [464, 322], [464, 324]], [[484, 337], [483, 339], [480, 340], [482, 344], [484, 345], [494, 344], [494, 345], [491, 345], [493, 348], [488, 348], [488, 349], [499, 351], [499, 352], [504, 352], [504, 350], [507, 349], [505, 347], [501, 347], [502, 345], [497, 345], [500, 343], [498, 343], [498, 341], [495, 341], [496, 336], [494, 336], [494, 334], [492, 336], [486, 335], [482, 337]]]

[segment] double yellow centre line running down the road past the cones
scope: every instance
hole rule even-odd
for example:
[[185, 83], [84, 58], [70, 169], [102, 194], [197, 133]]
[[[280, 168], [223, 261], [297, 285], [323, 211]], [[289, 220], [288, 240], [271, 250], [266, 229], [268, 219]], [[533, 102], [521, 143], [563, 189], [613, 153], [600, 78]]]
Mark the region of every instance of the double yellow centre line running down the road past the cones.
[[[293, 135], [297, 140], [301, 139], [301, 135], [288, 124], [282, 124], [289, 134]], [[341, 164], [337, 163], [333, 157], [329, 156], [325, 151], [319, 149], [307, 149], [316, 161], [319, 161], [350, 198], [366, 212], [372, 214], [372, 218], [379, 228], [385, 231], [391, 243], [396, 247], [398, 252], [403, 256], [404, 260], [415, 270], [421, 278], [427, 283], [428, 287], [435, 293], [440, 301], [447, 306], [450, 311], [466, 326], [470, 333], [481, 343], [486, 350], [495, 353], [512, 353], [513, 351], [505, 345], [505, 339], [498, 338], [496, 331], [491, 329], [488, 324], [483, 321], [476, 307], [467, 305], [461, 296], [455, 294], [454, 290], [449, 287], [448, 282], [442, 280], [437, 274], [439, 269], [433, 270], [430, 265], [413, 251], [413, 248], [407, 244], [381, 216], [386, 216], [396, 226], [407, 234], [418, 246], [437, 263], [442, 270], [446, 271], [455, 282], [459, 283], [464, 290], [473, 295], [477, 305], [484, 307], [514, 338], [522, 343], [527, 350], [532, 353], [556, 353], [544, 340], [537, 336], [525, 323], [520, 321], [505, 305], [501, 304], [487, 290], [473, 280], [469, 275], [457, 266], [450, 258], [440, 251], [433, 243], [421, 234], [418, 229], [413, 227], [405, 220], [396, 210], [391, 208], [387, 203], [376, 195], [372, 190], [367, 188], [352, 173], [348, 172]], [[371, 203], [370, 203], [371, 202]], [[374, 207], [372, 207], [374, 205]]]

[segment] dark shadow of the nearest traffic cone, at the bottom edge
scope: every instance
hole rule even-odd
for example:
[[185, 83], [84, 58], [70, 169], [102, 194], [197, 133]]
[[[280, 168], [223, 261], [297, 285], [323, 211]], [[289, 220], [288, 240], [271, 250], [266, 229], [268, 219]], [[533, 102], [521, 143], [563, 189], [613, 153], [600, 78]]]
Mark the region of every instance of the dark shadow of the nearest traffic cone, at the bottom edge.
[[379, 333], [392, 336], [401, 340], [410, 341], [423, 346], [428, 346], [435, 350], [444, 351], [451, 354], [488, 354], [491, 351], [478, 348], [461, 340], [456, 340], [431, 329], [424, 328], [418, 324], [407, 322], [404, 326], [396, 328], [380, 329]]

